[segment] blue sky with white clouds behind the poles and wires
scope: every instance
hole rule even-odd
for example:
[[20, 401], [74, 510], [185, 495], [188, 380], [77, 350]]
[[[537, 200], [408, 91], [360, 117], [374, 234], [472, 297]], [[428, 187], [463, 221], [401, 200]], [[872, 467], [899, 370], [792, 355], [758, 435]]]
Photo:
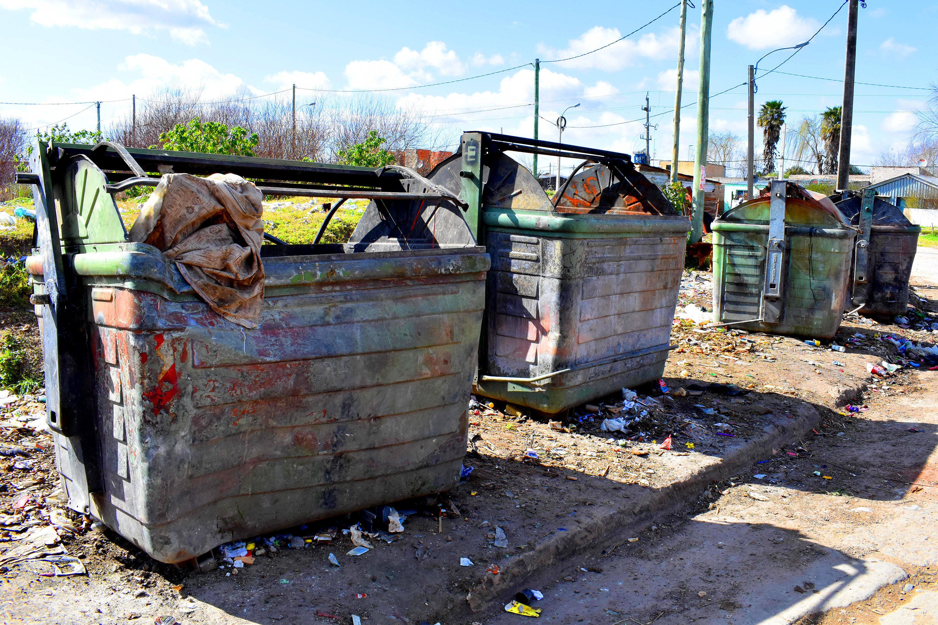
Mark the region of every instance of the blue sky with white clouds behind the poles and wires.
[[[716, 0], [711, 93], [744, 82], [747, 65], [765, 52], [810, 37], [841, 2]], [[419, 111], [439, 128], [441, 145], [462, 129], [530, 136], [533, 67], [525, 64], [598, 48], [675, 3], [0, 0], [8, 51], [8, 63], [0, 68], [0, 100], [123, 100], [102, 104], [107, 126], [129, 111], [131, 94], [147, 97], [167, 85], [202, 87], [206, 98], [269, 94], [292, 83], [331, 90], [404, 87], [380, 96]], [[684, 103], [697, 96], [700, 0], [694, 4], [688, 8]], [[857, 81], [925, 88], [938, 82], [938, 4], [868, 0], [867, 5], [860, 8]], [[843, 7], [779, 69], [842, 78], [846, 21]], [[642, 123], [631, 120], [643, 117], [648, 91], [651, 112], [658, 115], [653, 156], [670, 158], [677, 22], [674, 9], [601, 52], [542, 65], [541, 116], [552, 121], [579, 102], [567, 114], [565, 142], [631, 153], [644, 145]], [[760, 67], [775, 67], [788, 53], [775, 52]], [[524, 67], [417, 88], [515, 66]], [[803, 115], [839, 105], [841, 88], [840, 82], [772, 74], [759, 81], [756, 102], [783, 100], [796, 126]], [[852, 161], [870, 165], [882, 151], [900, 149], [915, 124], [915, 110], [928, 97], [926, 90], [858, 84]], [[298, 92], [301, 103], [323, 98], [315, 91]], [[73, 128], [94, 128], [95, 109], [83, 111], [86, 106], [3, 104], [0, 115], [19, 116], [33, 127], [68, 117]], [[695, 116], [696, 106], [682, 112], [682, 159], [694, 142]], [[745, 137], [744, 87], [711, 100], [710, 127]], [[556, 129], [542, 121], [541, 136], [555, 138]]]

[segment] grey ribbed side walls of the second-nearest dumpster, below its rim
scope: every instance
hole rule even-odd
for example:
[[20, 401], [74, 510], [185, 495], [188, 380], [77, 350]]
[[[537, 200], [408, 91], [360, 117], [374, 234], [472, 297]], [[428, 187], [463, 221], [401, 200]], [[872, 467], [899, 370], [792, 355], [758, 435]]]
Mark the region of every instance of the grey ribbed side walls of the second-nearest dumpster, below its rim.
[[[480, 379], [477, 392], [554, 413], [658, 378], [686, 237], [518, 232], [488, 233], [495, 314], [485, 373], [529, 378], [573, 370], [535, 383]], [[654, 347], [662, 349], [628, 355]]]

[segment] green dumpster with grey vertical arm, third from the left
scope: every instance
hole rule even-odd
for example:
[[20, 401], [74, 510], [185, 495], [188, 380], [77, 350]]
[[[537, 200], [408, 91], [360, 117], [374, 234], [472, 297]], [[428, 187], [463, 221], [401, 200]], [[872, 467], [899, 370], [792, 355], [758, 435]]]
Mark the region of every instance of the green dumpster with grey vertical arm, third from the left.
[[856, 229], [799, 186], [772, 181], [768, 191], [712, 224], [714, 320], [831, 338], [850, 297]]

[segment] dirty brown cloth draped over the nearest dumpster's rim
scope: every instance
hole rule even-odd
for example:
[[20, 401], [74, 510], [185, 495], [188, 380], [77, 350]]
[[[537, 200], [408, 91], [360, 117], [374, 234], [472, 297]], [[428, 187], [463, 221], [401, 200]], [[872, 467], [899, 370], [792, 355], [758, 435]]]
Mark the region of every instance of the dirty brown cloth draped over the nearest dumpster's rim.
[[156, 246], [212, 310], [257, 327], [264, 302], [264, 196], [233, 173], [167, 173], [130, 228]]

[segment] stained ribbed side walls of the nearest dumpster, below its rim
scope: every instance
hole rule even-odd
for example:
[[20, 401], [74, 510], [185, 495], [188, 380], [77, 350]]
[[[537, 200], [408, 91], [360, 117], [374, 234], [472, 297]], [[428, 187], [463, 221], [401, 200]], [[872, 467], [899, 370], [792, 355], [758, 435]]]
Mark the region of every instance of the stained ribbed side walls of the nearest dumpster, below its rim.
[[106, 483], [92, 513], [179, 562], [451, 488], [484, 278], [268, 293], [254, 330], [202, 303], [91, 287]]

